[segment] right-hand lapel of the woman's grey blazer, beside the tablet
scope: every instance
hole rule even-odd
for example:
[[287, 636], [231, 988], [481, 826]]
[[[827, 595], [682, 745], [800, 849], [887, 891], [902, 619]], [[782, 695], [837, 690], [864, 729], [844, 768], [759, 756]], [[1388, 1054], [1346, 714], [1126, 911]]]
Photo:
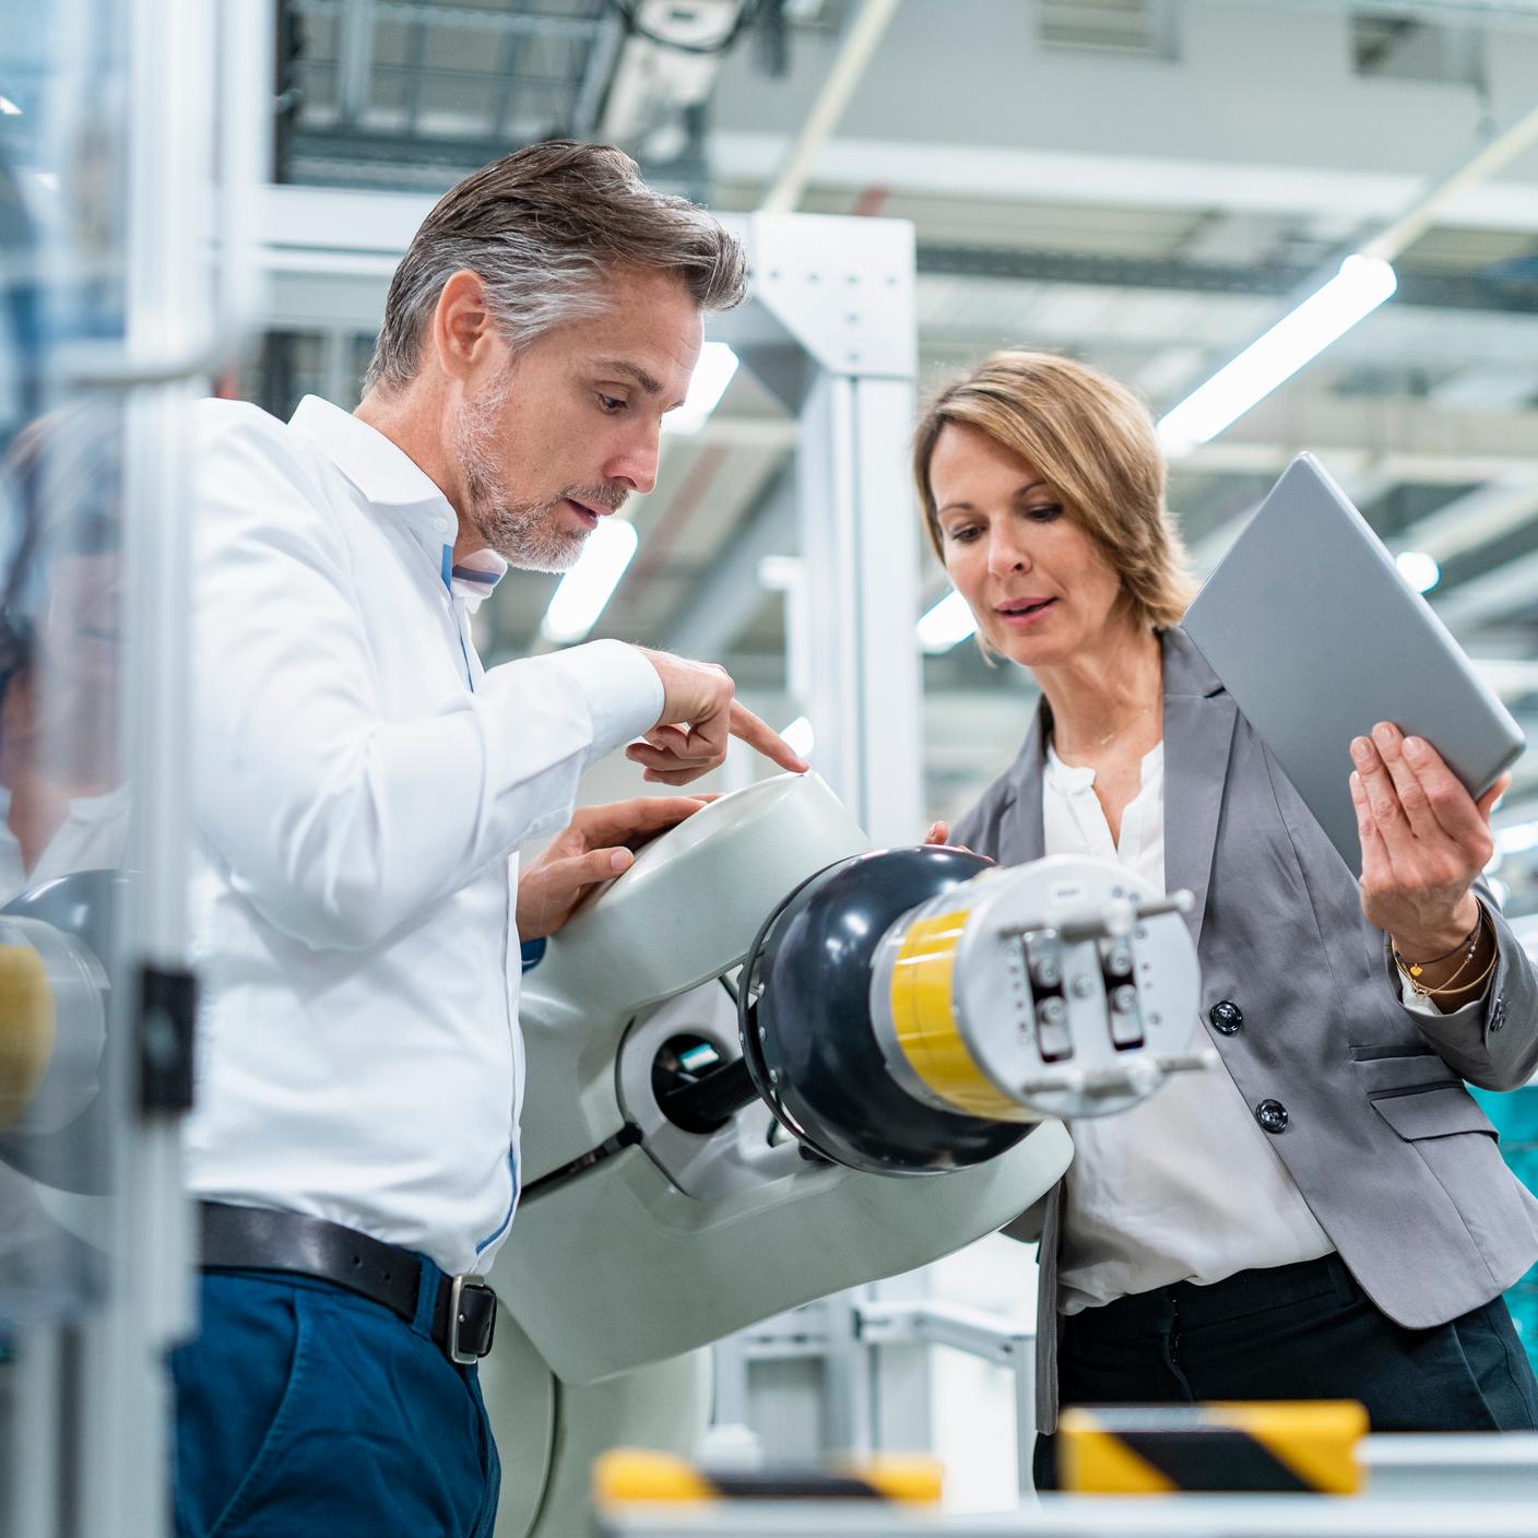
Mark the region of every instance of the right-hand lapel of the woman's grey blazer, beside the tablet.
[[1195, 898], [1186, 927], [1200, 946], [1238, 711], [1184, 631], [1164, 631], [1163, 644], [1164, 886]]

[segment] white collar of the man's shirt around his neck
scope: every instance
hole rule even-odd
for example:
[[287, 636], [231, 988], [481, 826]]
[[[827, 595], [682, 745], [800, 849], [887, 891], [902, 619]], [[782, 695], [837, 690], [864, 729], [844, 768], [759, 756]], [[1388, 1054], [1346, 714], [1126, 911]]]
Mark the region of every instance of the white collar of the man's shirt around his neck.
[[474, 608], [501, 581], [508, 563], [495, 551], [475, 551], [454, 561], [458, 515], [452, 503], [437, 481], [377, 428], [318, 395], [306, 395], [298, 403], [289, 426], [309, 438], [371, 506], [389, 508], [400, 517], [454, 597]]

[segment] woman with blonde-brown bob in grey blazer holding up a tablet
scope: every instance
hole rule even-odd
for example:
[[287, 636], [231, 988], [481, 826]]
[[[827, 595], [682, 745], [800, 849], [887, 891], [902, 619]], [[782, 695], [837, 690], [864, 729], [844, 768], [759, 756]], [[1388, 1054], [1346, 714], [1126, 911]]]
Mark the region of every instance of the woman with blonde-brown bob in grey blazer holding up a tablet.
[[1358, 884], [1180, 629], [1154, 426], [1094, 369], [995, 354], [930, 404], [915, 474], [980, 643], [1041, 686], [955, 841], [1189, 889], [1221, 1061], [1075, 1121], [1074, 1166], [1009, 1230], [1041, 1238], [1041, 1429], [1060, 1398], [1538, 1426], [1500, 1297], [1538, 1258], [1538, 1201], [1463, 1087], [1538, 1063], [1538, 977], [1476, 887], [1504, 781], [1475, 801], [1426, 743], [1364, 723]]

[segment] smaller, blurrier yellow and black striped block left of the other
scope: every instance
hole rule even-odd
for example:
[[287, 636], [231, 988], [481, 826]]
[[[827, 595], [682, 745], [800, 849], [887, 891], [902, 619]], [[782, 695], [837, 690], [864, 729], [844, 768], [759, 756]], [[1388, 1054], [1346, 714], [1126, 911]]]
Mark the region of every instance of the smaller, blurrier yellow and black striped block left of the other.
[[934, 1458], [872, 1458], [849, 1469], [704, 1469], [672, 1453], [615, 1447], [594, 1464], [601, 1507], [666, 1501], [907, 1501], [940, 1500]]

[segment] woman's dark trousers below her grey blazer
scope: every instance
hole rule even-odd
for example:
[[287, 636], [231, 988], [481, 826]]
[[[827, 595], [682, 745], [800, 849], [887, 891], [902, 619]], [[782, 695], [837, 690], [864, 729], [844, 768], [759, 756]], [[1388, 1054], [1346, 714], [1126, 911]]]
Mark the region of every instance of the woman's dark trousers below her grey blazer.
[[[1061, 1321], [1060, 1401], [1357, 1400], [1375, 1432], [1538, 1430], [1538, 1381], [1506, 1304], [1395, 1324], [1338, 1255], [1181, 1281]], [[1038, 1436], [1038, 1490], [1057, 1489]]]

